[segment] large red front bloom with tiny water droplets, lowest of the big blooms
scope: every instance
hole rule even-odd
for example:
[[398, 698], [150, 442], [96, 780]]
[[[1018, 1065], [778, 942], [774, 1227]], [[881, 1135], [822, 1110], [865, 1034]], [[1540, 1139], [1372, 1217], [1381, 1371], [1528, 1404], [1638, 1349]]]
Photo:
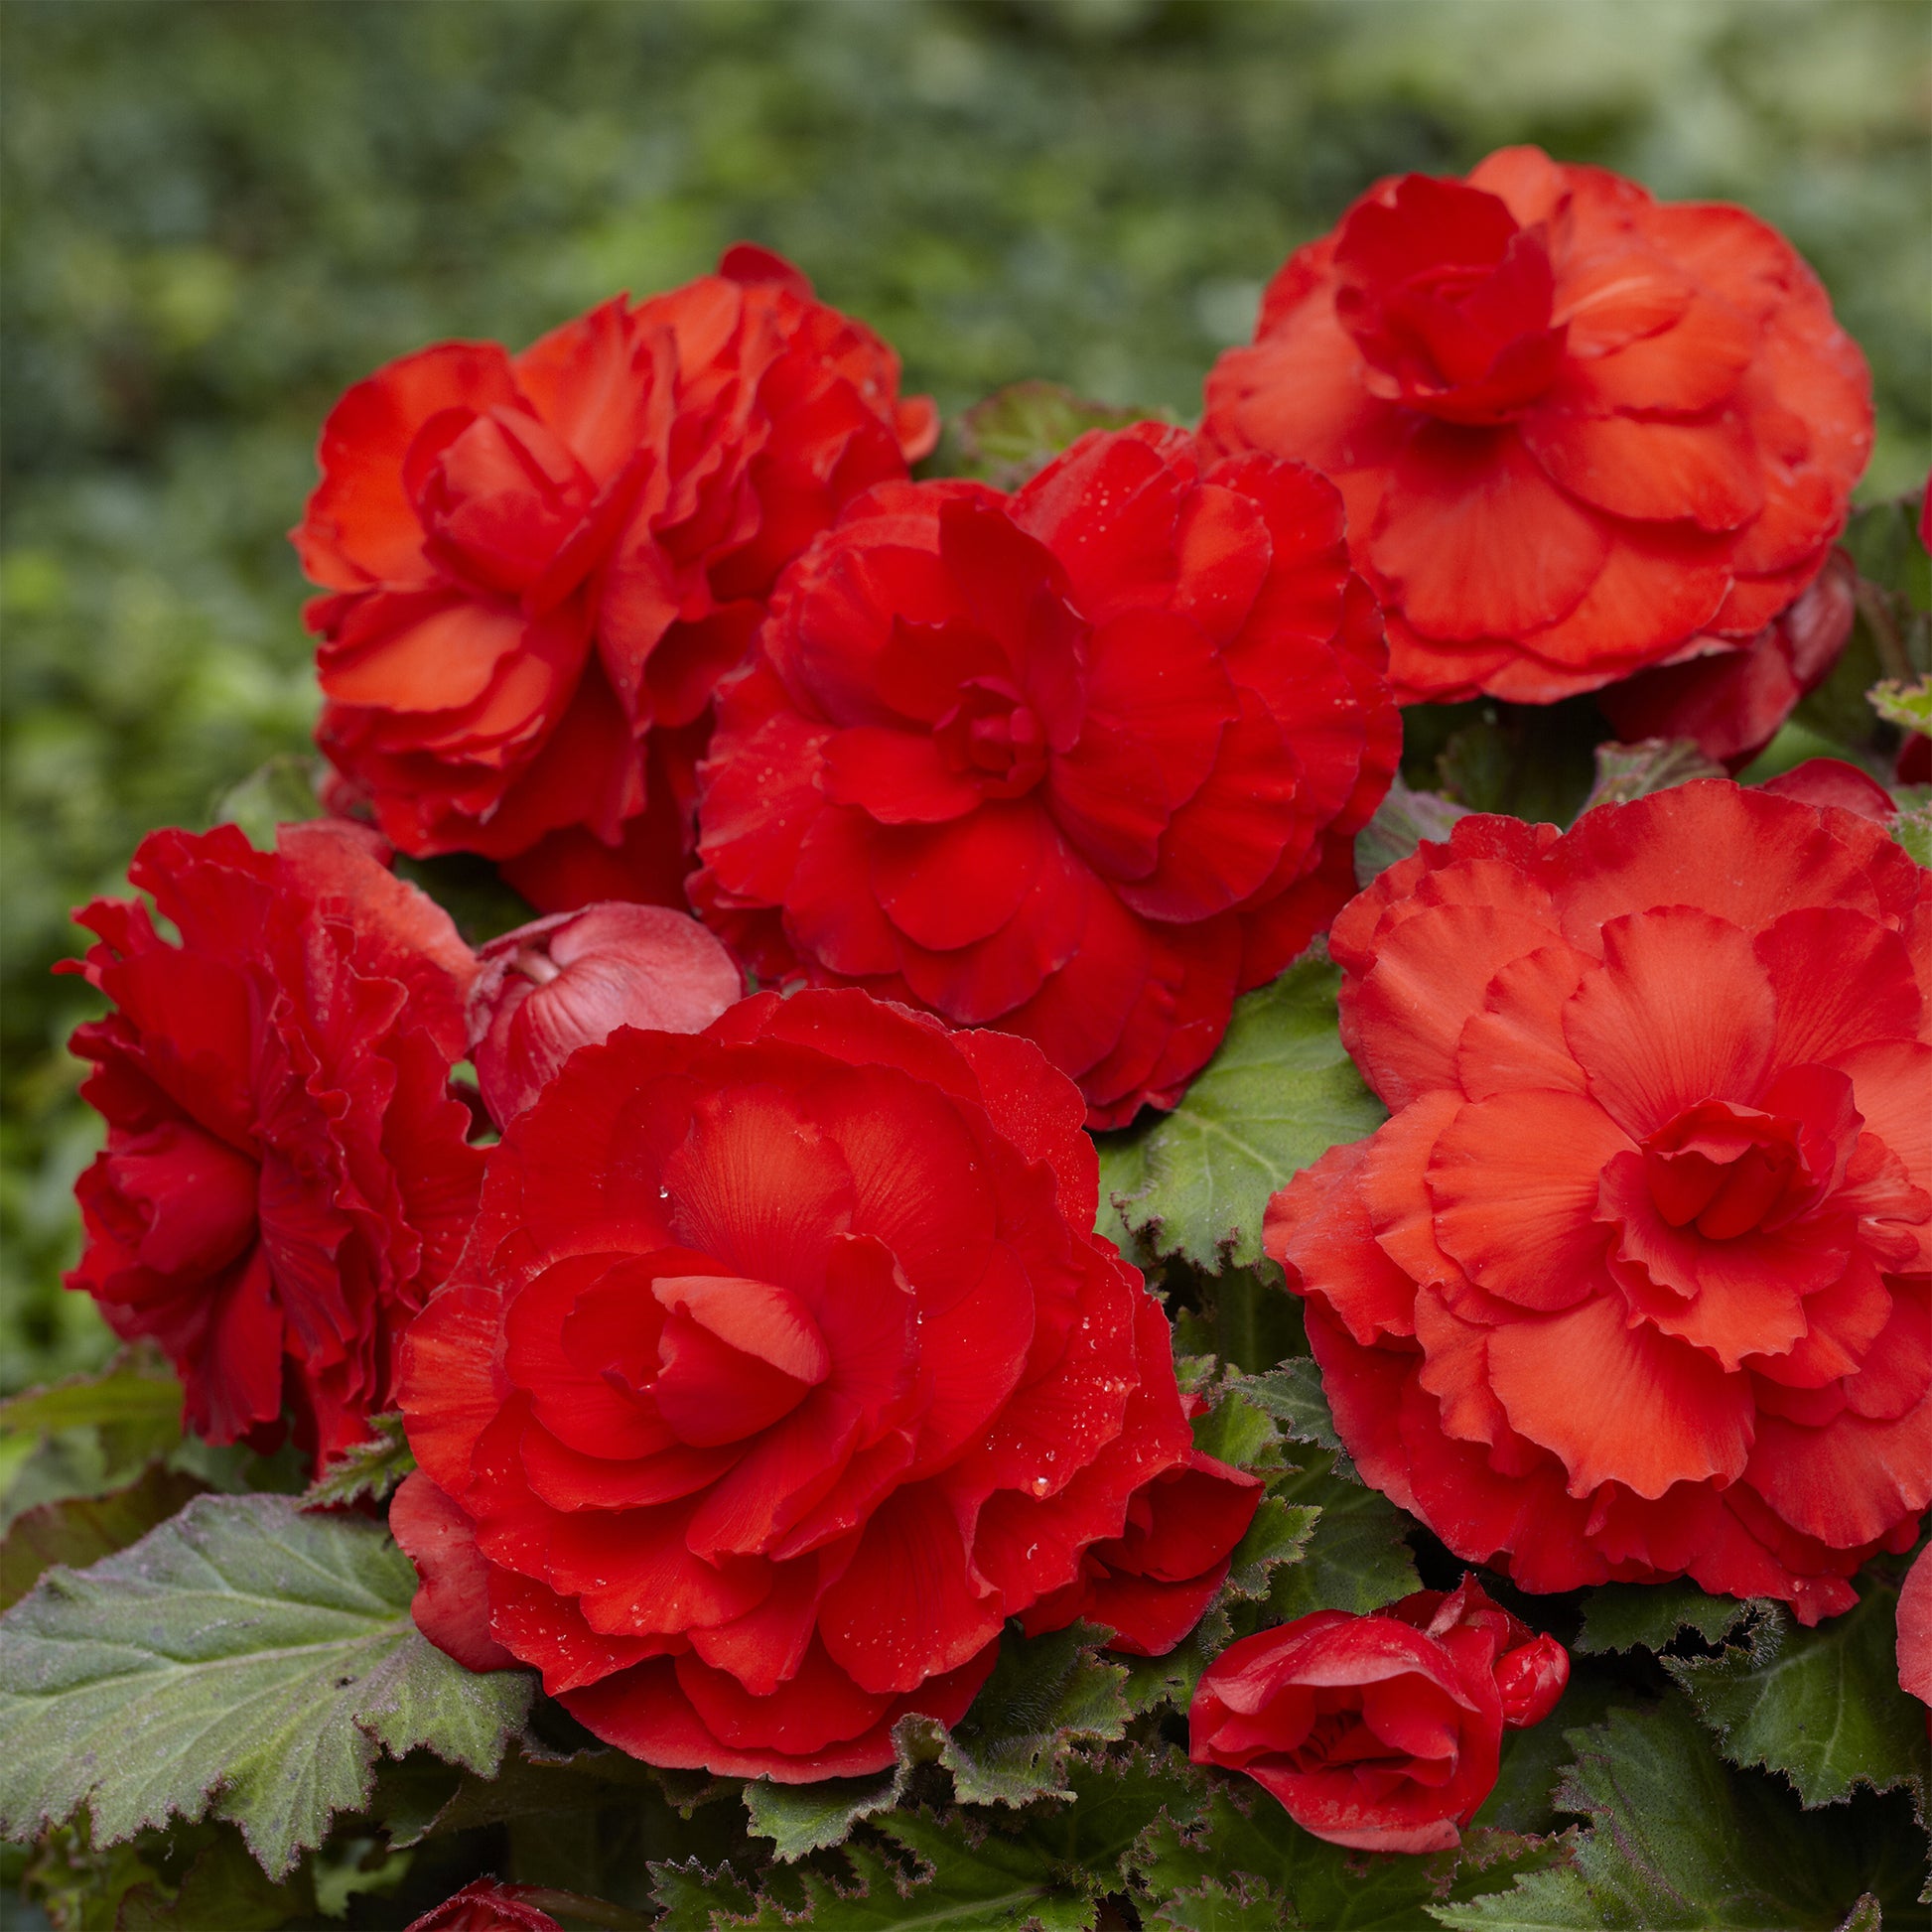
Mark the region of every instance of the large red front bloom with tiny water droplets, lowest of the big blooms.
[[835, 1777], [956, 1719], [1190, 1466], [1082, 1117], [1026, 1041], [848, 989], [582, 1047], [406, 1345], [425, 1633], [665, 1766]]

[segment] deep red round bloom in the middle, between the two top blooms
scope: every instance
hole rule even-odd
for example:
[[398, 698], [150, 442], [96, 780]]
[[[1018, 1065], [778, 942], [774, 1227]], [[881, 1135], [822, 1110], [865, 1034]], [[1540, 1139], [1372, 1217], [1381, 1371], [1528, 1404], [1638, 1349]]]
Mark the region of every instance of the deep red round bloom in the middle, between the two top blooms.
[[761, 974], [1037, 1041], [1119, 1126], [1345, 902], [1397, 752], [1335, 491], [1092, 433], [1014, 497], [873, 491], [786, 572], [692, 896]]

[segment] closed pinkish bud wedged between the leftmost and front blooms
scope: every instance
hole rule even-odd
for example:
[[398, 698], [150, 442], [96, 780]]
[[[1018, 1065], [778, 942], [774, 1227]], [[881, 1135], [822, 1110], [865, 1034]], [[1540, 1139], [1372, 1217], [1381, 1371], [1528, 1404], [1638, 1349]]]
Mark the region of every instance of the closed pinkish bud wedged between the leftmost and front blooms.
[[578, 1047], [620, 1026], [703, 1032], [744, 993], [732, 956], [668, 906], [597, 904], [493, 939], [469, 995], [469, 1055], [506, 1126]]

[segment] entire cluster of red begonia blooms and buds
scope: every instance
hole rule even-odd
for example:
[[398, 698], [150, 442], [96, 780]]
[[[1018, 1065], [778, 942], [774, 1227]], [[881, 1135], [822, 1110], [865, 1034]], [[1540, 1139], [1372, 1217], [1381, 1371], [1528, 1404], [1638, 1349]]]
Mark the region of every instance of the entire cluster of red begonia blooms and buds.
[[[1803, 263], [1509, 151], [1294, 255], [1198, 435], [1012, 493], [914, 481], [935, 440], [748, 247], [352, 388], [296, 531], [338, 817], [153, 835], [172, 935], [79, 916], [71, 1285], [213, 1441], [321, 1466], [400, 1408], [469, 1667], [659, 1766], [873, 1772], [1009, 1619], [1163, 1654], [1221, 1590], [1260, 1482], [1194, 1449], [1090, 1130], [1329, 931], [1393, 1117], [1267, 1248], [1364, 1476], [1528, 1590], [1847, 1607], [1932, 1501], [1932, 887], [1884, 794], [1468, 817], [1354, 879], [1399, 703], [1602, 692], [1735, 769], [1830, 667], [1870, 410]], [[394, 850], [547, 916], [473, 952]], [[1447, 1847], [1565, 1675], [1466, 1578], [1235, 1644], [1194, 1756]]]

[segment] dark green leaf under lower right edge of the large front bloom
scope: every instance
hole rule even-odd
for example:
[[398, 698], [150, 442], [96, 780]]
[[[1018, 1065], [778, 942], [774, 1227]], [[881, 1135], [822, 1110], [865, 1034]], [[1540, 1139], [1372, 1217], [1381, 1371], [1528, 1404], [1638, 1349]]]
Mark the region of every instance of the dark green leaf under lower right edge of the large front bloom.
[[1007, 1627], [985, 1689], [949, 1735], [939, 1733], [937, 1758], [962, 1804], [1065, 1799], [1072, 1747], [1126, 1735], [1126, 1669], [1103, 1663], [1097, 1642], [1082, 1623], [1032, 1638]]

